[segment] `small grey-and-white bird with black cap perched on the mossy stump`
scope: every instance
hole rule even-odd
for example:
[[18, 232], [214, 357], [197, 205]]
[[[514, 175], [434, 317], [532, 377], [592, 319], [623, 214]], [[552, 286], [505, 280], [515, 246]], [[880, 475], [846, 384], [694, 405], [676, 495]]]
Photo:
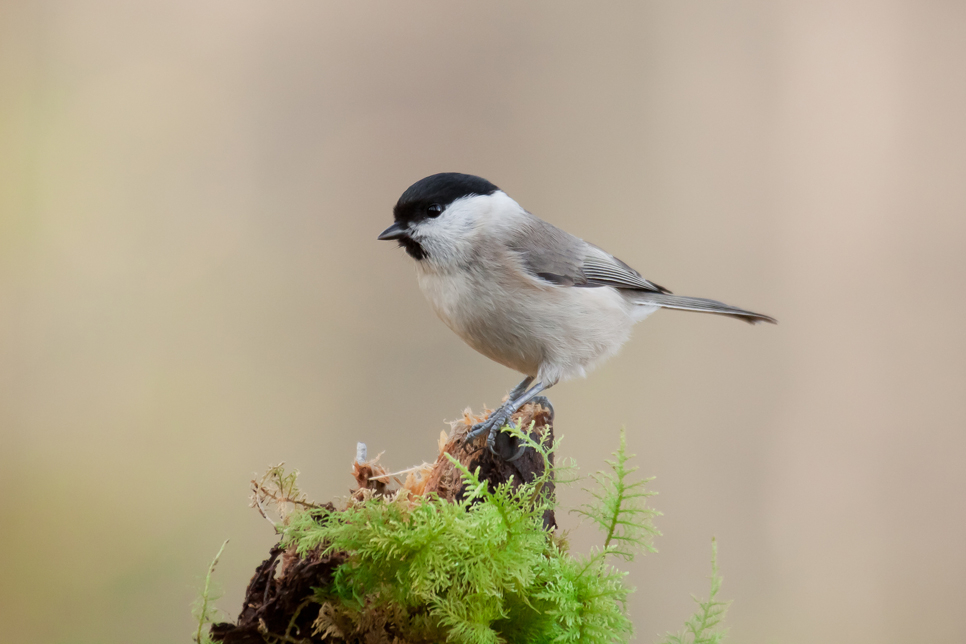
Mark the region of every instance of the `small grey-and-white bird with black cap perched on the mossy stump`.
[[714, 300], [673, 295], [481, 177], [444, 172], [420, 179], [393, 216], [378, 239], [399, 242], [416, 260], [419, 287], [436, 314], [468, 345], [526, 376], [467, 434], [469, 442], [488, 432], [494, 453], [497, 432], [520, 407], [613, 356], [634, 323], [660, 308], [776, 323]]

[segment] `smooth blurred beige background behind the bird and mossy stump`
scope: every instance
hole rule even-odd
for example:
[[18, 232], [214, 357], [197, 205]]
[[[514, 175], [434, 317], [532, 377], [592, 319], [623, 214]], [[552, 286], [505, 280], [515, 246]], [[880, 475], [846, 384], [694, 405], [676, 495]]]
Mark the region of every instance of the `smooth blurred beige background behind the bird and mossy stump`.
[[458, 170], [781, 321], [663, 312], [551, 392], [657, 476], [638, 641], [712, 535], [735, 641], [964, 641], [964, 115], [961, 1], [0, 3], [0, 639], [188, 641], [273, 541], [253, 472], [329, 499], [499, 401], [375, 240]]

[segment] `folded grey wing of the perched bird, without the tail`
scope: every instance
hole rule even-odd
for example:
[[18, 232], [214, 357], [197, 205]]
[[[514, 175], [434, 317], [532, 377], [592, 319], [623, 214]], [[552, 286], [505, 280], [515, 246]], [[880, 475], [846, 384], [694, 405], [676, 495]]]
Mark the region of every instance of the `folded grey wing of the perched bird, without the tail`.
[[610, 253], [533, 215], [510, 242], [523, 267], [558, 286], [601, 287], [670, 293]]

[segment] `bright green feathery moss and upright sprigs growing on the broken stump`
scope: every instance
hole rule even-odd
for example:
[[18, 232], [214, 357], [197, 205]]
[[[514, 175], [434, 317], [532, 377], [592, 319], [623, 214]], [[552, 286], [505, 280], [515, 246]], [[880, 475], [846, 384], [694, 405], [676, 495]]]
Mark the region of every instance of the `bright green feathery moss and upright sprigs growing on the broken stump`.
[[[650, 479], [635, 478], [637, 468], [628, 465], [623, 431], [607, 470], [593, 476], [594, 501], [576, 510], [603, 535], [601, 546], [586, 555], [568, 552], [566, 543], [544, 527], [544, 512], [553, 500], [543, 491], [551, 477], [558, 485], [563, 478], [563, 468], [555, 474], [550, 465], [554, 447], [526, 432], [507, 431], [543, 457], [545, 474], [491, 490], [479, 470], [469, 471], [449, 457], [465, 483], [459, 501], [402, 491], [350, 501], [342, 510], [296, 509], [277, 526], [282, 545], [302, 557], [344, 557], [331, 582], [307, 599], [318, 612], [312, 641], [368, 641], [367, 634], [385, 638], [387, 632], [406, 643], [630, 639], [631, 589], [612, 560], [630, 561], [653, 551], [651, 539], [659, 533], [651, 520], [659, 513], [646, 505], [654, 494], [645, 487]], [[285, 480], [291, 495], [298, 496], [294, 479]], [[668, 644], [721, 641], [716, 629], [725, 605], [717, 601], [719, 587], [715, 561], [709, 600], [699, 602], [684, 631], [667, 636]], [[294, 641], [287, 634], [284, 639]]]

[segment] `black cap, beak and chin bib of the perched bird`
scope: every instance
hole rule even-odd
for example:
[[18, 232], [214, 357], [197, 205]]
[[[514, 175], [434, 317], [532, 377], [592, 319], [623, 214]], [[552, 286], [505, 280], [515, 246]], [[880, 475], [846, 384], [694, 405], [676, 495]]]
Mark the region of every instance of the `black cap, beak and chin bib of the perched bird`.
[[396, 240], [413, 258], [423, 259], [425, 250], [409, 236], [413, 224], [439, 217], [457, 199], [491, 195], [497, 190], [499, 188], [482, 177], [459, 172], [440, 172], [420, 179], [399, 197], [392, 209], [395, 223], [382, 231], [378, 239]]

